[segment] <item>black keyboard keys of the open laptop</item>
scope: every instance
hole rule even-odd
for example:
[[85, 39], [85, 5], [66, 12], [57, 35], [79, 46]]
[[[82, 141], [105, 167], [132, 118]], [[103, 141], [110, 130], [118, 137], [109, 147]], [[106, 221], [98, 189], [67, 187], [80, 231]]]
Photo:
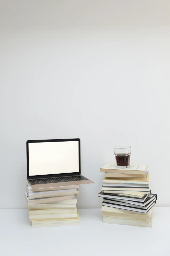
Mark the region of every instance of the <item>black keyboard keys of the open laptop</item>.
[[56, 183], [56, 182], [67, 182], [67, 181], [78, 181], [78, 180], [87, 180], [84, 176], [68, 176], [68, 177], [54, 177], [47, 179], [29, 179], [31, 185], [37, 184], [47, 184], [47, 183]]

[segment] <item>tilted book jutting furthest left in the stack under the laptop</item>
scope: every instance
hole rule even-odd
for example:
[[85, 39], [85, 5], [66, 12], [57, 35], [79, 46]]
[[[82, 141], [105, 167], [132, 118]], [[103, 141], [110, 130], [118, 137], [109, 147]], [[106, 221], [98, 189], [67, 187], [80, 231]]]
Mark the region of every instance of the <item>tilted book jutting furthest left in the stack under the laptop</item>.
[[25, 198], [28, 202], [28, 205], [32, 205], [32, 204], [40, 204], [40, 203], [46, 203], [46, 202], [59, 201], [59, 200], [63, 200], [63, 199], [74, 199], [74, 196], [64, 195], [64, 196], [56, 196], [56, 197], [29, 199], [27, 193], [25, 193]]

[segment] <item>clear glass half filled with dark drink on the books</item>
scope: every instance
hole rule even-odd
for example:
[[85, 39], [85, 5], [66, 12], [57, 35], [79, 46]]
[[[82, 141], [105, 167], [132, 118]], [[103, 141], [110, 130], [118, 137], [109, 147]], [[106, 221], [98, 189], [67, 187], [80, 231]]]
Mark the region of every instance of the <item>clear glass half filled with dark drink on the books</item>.
[[131, 147], [117, 146], [114, 147], [116, 164], [118, 168], [128, 168], [130, 166]]

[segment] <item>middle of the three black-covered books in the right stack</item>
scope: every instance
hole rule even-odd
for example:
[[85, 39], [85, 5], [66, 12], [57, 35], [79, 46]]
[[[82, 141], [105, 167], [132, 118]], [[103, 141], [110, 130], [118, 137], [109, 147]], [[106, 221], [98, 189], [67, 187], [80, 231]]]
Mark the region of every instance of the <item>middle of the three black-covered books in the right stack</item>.
[[[132, 206], [132, 207], [136, 207], [136, 208], [141, 208], [141, 209], [148, 209], [148, 207], [154, 203], [156, 201], [156, 195], [155, 196], [152, 196], [151, 198], [147, 198], [145, 203], [139, 203], [138, 205], [138, 202], [134, 202], [134, 201], [128, 201], [128, 200], [124, 200], [125, 202], [122, 202], [121, 200], [118, 201], [116, 199], [112, 200], [112, 199], [106, 199], [106, 198], [103, 198], [103, 203], [113, 203], [113, 204], [119, 204], [119, 205], [124, 205], [124, 206]], [[137, 203], [137, 204], [135, 204]]]

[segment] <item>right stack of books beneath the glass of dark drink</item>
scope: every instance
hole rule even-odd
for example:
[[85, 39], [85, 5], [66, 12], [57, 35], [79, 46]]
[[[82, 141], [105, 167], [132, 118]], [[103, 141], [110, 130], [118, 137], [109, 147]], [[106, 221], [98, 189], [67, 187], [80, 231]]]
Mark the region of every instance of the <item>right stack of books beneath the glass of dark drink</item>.
[[157, 195], [151, 194], [148, 165], [136, 164], [120, 169], [106, 164], [102, 192], [104, 223], [151, 227]]

